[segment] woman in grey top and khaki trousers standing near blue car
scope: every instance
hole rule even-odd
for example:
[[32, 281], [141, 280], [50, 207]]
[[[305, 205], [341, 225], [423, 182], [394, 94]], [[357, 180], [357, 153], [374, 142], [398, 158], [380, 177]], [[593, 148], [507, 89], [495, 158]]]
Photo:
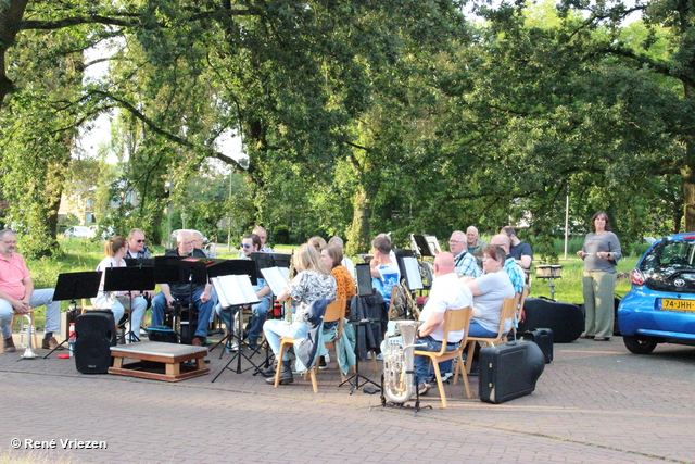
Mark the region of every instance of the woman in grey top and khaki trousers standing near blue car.
[[597, 212], [591, 218], [591, 233], [577, 255], [584, 260], [584, 309], [586, 319], [582, 338], [608, 341], [615, 319], [616, 266], [622, 256], [620, 241], [610, 231], [608, 214]]

